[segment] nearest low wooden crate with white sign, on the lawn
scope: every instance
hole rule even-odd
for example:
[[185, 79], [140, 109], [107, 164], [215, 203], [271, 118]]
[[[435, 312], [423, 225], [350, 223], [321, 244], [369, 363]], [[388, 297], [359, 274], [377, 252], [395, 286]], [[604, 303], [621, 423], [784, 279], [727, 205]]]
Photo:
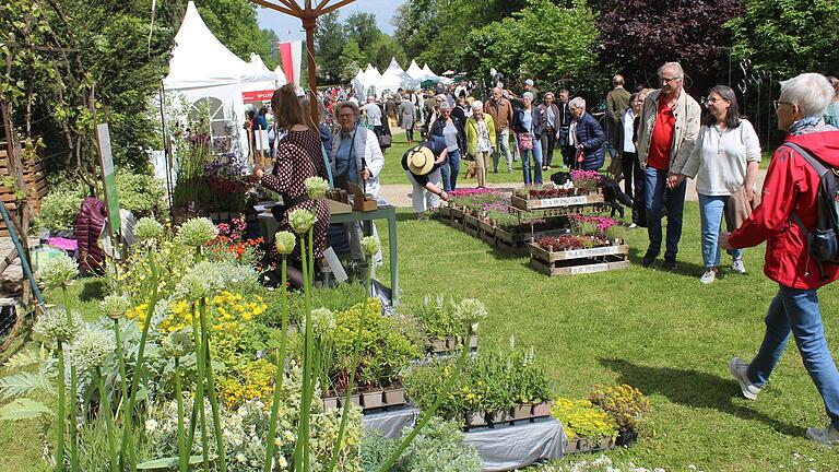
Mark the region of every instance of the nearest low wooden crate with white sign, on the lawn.
[[629, 246], [605, 246], [568, 251], [548, 251], [529, 244], [530, 264], [546, 275], [577, 275], [629, 267]]

